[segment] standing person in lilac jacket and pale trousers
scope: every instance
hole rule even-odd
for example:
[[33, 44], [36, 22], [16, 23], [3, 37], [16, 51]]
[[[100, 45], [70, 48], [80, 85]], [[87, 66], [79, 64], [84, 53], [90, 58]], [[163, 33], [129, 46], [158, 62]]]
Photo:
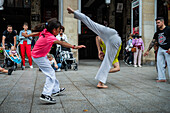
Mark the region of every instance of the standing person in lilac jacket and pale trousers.
[[137, 67], [137, 58], [138, 58], [138, 66], [141, 66], [141, 56], [142, 52], [144, 50], [144, 43], [141, 37], [135, 37], [135, 39], [132, 40], [133, 46], [136, 48], [136, 52], [134, 52], [134, 67]]

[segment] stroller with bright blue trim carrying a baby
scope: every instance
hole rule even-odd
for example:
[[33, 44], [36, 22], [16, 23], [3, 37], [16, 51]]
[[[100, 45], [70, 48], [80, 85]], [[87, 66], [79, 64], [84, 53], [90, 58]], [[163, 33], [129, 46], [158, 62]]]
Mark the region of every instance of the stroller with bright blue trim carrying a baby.
[[[11, 46], [12, 46], [12, 44], [10, 44]], [[7, 46], [7, 44], [5, 44], [5, 46]], [[7, 47], [8, 48], [8, 47]], [[9, 49], [9, 48], [8, 48]], [[5, 58], [4, 58], [4, 63], [2, 64], [2, 67], [4, 68], [4, 67], [13, 67], [13, 69], [14, 69], [14, 71], [16, 70], [16, 68], [17, 68], [17, 64], [21, 64], [21, 68], [22, 68], [22, 70], [23, 70], [23, 66], [22, 66], [22, 61], [21, 61], [21, 56], [20, 56], [20, 54], [19, 54], [19, 51], [18, 51], [18, 46], [17, 46], [17, 54], [18, 54], [18, 56], [19, 56], [19, 58], [20, 59], [14, 59], [13, 57], [11, 57], [10, 55], [9, 55], [9, 51], [10, 51], [10, 49], [9, 50], [4, 50], [4, 56], [5, 56]], [[16, 56], [15, 56], [16, 57]]]

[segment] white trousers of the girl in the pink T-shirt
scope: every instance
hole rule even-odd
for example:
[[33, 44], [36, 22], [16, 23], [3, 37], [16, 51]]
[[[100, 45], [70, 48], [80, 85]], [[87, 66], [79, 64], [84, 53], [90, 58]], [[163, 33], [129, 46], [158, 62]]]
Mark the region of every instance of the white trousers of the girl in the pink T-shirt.
[[[33, 58], [33, 57], [32, 57]], [[55, 71], [47, 57], [33, 58], [33, 61], [39, 66], [41, 71], [46, 75], [46, 81], [42, 94], [51, 96], [52, 93], [59, 91], [59, 82], [56, 79]]]

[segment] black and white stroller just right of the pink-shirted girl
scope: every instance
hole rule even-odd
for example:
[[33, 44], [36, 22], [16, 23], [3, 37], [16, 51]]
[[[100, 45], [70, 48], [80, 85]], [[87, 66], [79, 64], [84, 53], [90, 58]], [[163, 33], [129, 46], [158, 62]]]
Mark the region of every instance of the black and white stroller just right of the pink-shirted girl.
[[56, 61], [61, 63], [61, 68], [67, 71], [68, 69], [78, 70], [76, 59], [73, 58], [73, 52], [70, 48], [58, 47], [56, 52]]

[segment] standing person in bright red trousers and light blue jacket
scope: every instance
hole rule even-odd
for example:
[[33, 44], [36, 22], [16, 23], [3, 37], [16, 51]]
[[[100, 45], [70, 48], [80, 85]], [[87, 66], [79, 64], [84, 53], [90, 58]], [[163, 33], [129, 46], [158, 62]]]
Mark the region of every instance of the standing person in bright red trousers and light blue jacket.
[[30, 68], [33, 68], [32, 58], [31, 58], [31, 39], [32, 39], [32, 37], [22, 36], [22, 33], [26, 33], [28, 35], [31, 34], [31, 30], [28, 30], [28, 23], [26, 23], [26, 22], [24, 23], [23, 28], [24, 28], [24, 30], [21, 30], [20, 34], [19, 34], [19, 39], [21, 40], [20, 50], [21, 50], [23, 69], [25, 69], [25, 51], [28, 56]]

